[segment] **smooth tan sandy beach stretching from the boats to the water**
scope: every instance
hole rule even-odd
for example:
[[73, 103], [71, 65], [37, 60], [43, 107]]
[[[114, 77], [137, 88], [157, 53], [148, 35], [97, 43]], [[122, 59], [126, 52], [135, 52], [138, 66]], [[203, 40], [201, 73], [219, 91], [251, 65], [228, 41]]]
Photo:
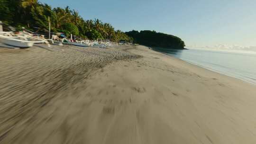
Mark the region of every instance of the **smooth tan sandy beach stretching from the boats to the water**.
[[0, 48], [0, 144], [256, 144], [255, 110], [255, 85], [144, 46]]

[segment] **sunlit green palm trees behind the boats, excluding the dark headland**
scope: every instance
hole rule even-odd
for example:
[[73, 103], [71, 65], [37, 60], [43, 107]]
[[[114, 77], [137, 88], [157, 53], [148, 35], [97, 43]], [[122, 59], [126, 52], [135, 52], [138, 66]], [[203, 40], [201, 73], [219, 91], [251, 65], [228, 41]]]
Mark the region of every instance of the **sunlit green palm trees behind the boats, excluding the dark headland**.
[[37, 27], [45, 31], [50, 21], [52, 32], [63, 32], [66, 36], [73, 34], [93, 40], [133, 41], [124, 32], [115, 30], [110, 23], [103, 23], [99, 19], [85, 20], [78, 11], [71, 10], [68, 6], [64, 9], [51, 8], [38, 0], [0, 0], [0, 20], [17, 28], [34, 30]]

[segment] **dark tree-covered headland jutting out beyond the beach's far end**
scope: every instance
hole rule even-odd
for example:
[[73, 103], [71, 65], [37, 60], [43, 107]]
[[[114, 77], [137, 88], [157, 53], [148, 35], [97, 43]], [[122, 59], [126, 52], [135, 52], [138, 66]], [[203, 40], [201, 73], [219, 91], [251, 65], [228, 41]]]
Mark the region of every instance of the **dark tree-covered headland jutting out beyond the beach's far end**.
[[168, 49], [184, 49], [185, 46], [181, 38], [164, 33], [157, 33], [156, 31], [143, 30], [138, 32], [136, 30], [132, 30], [125, 34], [132, 37], [133, 42], [139, 45]]

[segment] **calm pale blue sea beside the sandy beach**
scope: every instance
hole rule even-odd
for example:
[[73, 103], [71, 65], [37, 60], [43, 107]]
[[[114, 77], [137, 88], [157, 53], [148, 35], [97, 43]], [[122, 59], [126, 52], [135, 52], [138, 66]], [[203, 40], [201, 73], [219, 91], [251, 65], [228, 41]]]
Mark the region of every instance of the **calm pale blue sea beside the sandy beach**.
[[153, 49], [211, 71], [256, 84], [256, 53], [198, 49]]

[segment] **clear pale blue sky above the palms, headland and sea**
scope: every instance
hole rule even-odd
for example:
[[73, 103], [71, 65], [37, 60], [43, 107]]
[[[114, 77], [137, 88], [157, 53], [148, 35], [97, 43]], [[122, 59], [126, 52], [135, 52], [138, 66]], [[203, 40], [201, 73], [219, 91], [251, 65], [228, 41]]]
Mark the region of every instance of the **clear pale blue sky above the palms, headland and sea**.
[[186, 45], [256, 46], [256, 0], [39, 0], [116, 29], [155, 30]]

